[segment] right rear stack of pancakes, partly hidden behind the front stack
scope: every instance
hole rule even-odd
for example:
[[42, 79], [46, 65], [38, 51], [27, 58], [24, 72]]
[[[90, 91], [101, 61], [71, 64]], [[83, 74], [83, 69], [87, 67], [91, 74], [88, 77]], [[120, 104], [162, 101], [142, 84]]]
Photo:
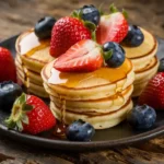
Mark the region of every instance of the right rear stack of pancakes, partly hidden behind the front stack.
[[132, 61], [134, 67], [136, 80], [132, 96], [139, 96], [148, 84], [148, 81], [156, 73], [159, 60], [156, 58], [157, 42], [152, 34], [141, 28], [144, 40], [138, 47], [122, 46], [126, 56]]

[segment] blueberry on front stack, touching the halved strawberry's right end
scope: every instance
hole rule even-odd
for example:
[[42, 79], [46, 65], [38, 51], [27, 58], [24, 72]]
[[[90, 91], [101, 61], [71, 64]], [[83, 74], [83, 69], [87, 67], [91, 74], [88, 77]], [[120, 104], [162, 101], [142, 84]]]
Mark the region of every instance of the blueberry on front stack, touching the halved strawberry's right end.
[[117, 68], [125, 61], [125, 50], [122, 47], [113, 42], [105, 43], [103, 45], [105, 62], [108, 67]]

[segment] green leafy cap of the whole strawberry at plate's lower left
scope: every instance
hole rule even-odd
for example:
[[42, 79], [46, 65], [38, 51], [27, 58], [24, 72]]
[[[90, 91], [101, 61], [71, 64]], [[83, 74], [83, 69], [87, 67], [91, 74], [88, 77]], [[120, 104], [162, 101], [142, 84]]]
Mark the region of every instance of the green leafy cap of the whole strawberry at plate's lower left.
[[27, 96], [22, 94], [13, 104], [12, 113], [8, 119], [4, 120], [8, 128], [14, 129], [17, 128], [19, 131], [23, 130], [23, 124], [28, 124], [27, 112], [33, 109], [33, 106], [26, 104]]

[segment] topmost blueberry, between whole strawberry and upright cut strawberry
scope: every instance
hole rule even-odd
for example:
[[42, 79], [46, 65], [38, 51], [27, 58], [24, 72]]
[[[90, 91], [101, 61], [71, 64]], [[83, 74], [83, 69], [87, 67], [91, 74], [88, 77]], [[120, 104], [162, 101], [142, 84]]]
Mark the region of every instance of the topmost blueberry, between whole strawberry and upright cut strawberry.
[[93, 4], [84, 5], [80, 9], [80, 11], [82, 12], [82, 20], [90, 21], [95, 25], [98, 25], [101, 14], [99, 11]]

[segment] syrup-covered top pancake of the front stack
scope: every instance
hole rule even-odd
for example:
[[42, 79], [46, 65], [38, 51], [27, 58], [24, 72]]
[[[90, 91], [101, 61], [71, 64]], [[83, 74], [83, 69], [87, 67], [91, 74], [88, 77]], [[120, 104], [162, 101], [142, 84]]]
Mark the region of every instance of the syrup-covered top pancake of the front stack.
[[[50, 95], [59, 94], [67, 99], [97, 99], [115, 95], [132, 84], [132, 63], [126, 59], [117, 69], [101, 68], [87, 73], [63, 73], [52, 68], [54, 61], [42, 71], [44, 83]], [[108, 75], [112, 74], [112, 75]]]

